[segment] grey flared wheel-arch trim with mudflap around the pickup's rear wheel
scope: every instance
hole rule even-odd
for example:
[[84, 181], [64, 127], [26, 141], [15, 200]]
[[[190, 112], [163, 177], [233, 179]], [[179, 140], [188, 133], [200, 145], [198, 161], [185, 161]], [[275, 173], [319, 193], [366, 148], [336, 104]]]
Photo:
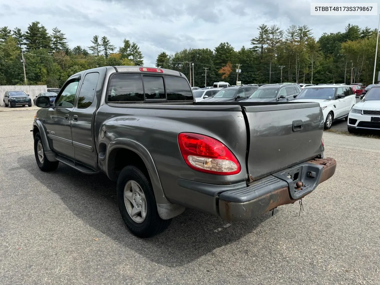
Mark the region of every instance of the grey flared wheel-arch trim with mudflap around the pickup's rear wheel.
[[148, 170], [150, 181], [152, 182], [158, 214], [162, 219], [168, 220], [169, 218], [173, 218], [185, 211], [185, 207], [172, 204], [166, 199], [160, 182], [160, 177], [158, 177], [158, 172], [156, 166], [154, 165], [153, 158], [146, 147], [137, 141], [127, 138], [116, 138], [109, 143], [106, 150], [105, 165], [103, 165], [105, 166], [105, 173], [109, 179], [116, 179], [116, 177], [114, 177], [114, 174], [111, 173], [109, 169], [109, 155], [111, 154], [112, 150], [117, 148], [125, 148], [131, 150], [138, 154], [142, 161], [144, 161], [144, 164]]

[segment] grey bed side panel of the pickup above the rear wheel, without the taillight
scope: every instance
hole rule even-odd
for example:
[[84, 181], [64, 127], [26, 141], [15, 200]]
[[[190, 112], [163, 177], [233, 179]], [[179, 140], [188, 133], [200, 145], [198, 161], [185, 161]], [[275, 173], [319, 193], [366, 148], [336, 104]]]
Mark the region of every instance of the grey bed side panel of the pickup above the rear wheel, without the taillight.
[[[130, 104], [131, 105], [131, 104]], [[116, 138], [128, 138], [141, 143], [152, 156], [166, 198], [172, 203], [185, 204], [188, 189], [178, 185], [177, 179], [187, 179], [209, 184], [233, 184], [247, 179], [245, 155], [247, 130], [240, 106], [230, 106], [234, 111], [212, 111], [208, 106], [161, 105], [151, 108], [117, 108], [102, 105], [97, 111], [95, 130], [106, 126], [104, 141], [107, 145]], [[145, 105], [147, 106], [147, 105]], [[211, 136], [225, 144], [236, 156], [242, 170], [239, 174], [219, 176], [201, 173], [189, 168], [180, 154], [177, 136], [193, 132]], [[105, 169], [103, 171], [106, 172]]]

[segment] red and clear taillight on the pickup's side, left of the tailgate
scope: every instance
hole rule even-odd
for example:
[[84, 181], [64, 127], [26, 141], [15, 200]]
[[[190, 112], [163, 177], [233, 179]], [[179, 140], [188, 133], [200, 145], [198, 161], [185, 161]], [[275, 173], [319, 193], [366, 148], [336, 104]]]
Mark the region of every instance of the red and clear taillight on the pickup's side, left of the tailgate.
[[196, 133], [180, 133], [178, 145], [186, 164], [197, 171], [231, 175], [240, 172], [239, 161], [222, 142]]

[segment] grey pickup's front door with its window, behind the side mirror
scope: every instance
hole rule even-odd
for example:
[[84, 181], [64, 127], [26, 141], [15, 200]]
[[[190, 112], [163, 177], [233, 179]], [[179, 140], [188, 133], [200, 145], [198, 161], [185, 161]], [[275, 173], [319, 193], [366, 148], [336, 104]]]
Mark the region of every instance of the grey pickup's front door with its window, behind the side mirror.
[[71, 112], [80, 78], [66, 82], [46, 116], [46, 131], [52, 149], [68, 158], [74, 159], [73, 139], [71, 136]]

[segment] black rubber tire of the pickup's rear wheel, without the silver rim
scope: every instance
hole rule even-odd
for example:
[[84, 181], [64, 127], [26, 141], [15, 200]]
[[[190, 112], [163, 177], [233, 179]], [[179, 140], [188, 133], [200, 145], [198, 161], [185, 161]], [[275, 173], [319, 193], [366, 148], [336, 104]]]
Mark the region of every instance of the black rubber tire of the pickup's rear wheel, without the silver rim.
[[[143, 222], [135, 222], [128, 214], [124, 202], [124, 187], [128, 181], [134, 180], [141, 186], [146, 198], [147, 214]], [[117, 203], [120, 214], [127, 228], [138, 237], [152, 237], [166, 230], [171, 219], [163, 220], [158, 215], [156, 199], [149, 178], [136, 166], [125, 166], [117, 179]]]

